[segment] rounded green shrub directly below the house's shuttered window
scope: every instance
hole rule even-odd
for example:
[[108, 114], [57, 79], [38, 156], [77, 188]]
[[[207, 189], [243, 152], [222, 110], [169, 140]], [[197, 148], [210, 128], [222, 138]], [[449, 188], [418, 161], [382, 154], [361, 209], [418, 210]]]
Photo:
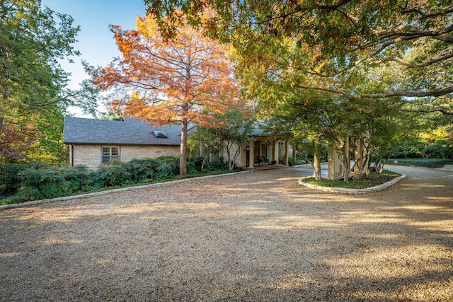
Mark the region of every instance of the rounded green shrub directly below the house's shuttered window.
[[131, 175], [126, 168], [126, 164], [120, 161], [103, 163], [93, 173], [93, 178], [96, 187], [115, 187], [131, 181]]

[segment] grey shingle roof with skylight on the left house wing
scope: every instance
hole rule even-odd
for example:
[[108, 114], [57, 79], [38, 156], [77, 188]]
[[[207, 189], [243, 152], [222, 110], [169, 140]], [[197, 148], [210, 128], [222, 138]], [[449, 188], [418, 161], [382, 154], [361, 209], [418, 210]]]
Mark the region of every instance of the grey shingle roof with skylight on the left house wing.
[[[156, 137], [165, 132], [167, 138]], [[115, 144], [179, 146], [179, 124], [153, 126], [134, 118], [123, 121], [95, 120], [81, 117], [64, 118], [64, 144]]]

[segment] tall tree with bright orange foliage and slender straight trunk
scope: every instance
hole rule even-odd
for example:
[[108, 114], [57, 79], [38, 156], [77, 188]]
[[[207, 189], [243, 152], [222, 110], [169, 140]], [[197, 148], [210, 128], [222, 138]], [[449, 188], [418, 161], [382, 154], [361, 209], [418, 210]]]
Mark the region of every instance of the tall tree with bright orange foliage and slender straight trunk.
[[215, 115], [239, 105], [227, 47], [189, 25], [164, 39], [156, 21], [137, 16], [137, 30], [110, 25], [122, 58], [86, 66], [93, 82], [113, 91], [108, 104], [151, 124], [181, 124], [180, 175], [187, 174], [188, 124], [213, 126]]

